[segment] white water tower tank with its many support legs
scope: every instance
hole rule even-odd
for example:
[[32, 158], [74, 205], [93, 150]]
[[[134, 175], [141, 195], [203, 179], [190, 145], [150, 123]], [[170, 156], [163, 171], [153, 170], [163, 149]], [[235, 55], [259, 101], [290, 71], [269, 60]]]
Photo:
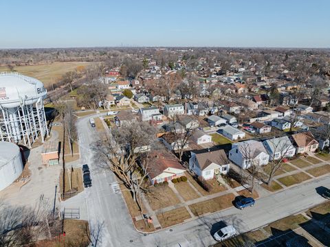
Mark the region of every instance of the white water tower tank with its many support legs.
[[31, 144], [49, 135], [43, 99], [47, 91], [35, 78], [0, 73], [0, 140]]

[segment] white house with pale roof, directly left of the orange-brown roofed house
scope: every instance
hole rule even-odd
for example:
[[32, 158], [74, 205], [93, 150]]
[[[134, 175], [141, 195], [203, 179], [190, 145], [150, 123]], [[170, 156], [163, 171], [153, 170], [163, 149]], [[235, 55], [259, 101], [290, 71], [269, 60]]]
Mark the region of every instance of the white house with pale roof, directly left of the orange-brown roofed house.
[[289, 137], [278, 137], [263, 141], [268, 154], [270, 154], [270, 160], [278, 160], [278, 158], [292, 157], [296, 154], [296, 148], [292, 145]]

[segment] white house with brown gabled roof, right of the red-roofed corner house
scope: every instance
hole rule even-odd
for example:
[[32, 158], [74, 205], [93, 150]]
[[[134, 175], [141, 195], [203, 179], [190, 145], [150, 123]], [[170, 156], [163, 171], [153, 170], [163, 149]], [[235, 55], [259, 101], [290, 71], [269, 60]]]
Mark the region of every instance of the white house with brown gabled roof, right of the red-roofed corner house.
[[217, 174], [227, 174], [230, 161], [223, 150], [197, 150], [190, 152], [189, 169], [204, 179], [214, 178]]

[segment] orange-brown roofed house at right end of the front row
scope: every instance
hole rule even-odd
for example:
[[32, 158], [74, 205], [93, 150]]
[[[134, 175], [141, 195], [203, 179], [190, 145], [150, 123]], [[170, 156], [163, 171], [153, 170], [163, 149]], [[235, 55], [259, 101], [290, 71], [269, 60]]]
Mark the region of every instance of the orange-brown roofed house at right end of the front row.
[[296, 153], [302, 154], [305, 152], [315, 152], [318, 149], [318, 141], [314, 138], [311, 132], [303, 132], [292, 134], [292, 142], [296, 146]]

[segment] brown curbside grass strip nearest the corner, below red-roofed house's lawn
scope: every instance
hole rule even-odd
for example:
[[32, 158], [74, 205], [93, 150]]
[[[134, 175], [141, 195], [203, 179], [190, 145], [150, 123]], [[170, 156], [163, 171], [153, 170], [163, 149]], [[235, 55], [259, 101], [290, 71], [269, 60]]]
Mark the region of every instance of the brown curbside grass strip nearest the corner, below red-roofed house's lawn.
[[179, 209], [173, 209], [164, 213], [159, 213], [156, 216], [163, 228], [168, 226], [174, 226], [190, 218], [190, 214], [185, 207], [180, 207]]

